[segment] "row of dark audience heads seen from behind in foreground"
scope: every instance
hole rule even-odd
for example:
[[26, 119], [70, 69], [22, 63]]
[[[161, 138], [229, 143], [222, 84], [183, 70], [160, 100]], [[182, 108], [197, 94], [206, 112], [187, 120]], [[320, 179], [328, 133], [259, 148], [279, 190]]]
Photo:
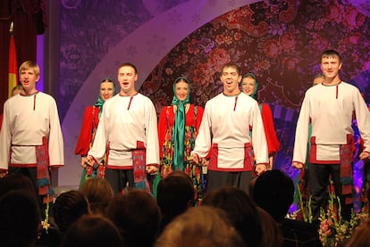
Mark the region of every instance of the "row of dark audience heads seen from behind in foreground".
[[[0, 239], [2, 246], [322, 246], [316, 226], [285, 218], [293, 193], [290, 177], [278, 169], [257, 177], [249, 194], [222, 187], [197, 207], [183, 172], [164, 177], [156, 199], [139, 189], [114, 194], [104, 178], [89, 178], [80, 191], [55, 199], [45, 229], [29, 178], [8, 175], [0, 179]], [[366, 241], [357, 237], [346, 246]]]

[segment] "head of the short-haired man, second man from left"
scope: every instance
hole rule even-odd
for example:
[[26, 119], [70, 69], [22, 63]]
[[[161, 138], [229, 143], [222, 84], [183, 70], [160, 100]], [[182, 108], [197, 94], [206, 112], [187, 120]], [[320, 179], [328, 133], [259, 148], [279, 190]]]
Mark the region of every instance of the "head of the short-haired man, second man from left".
[[130, 66], [123, 66], [118, 70], [118, 82], [121, 86], [121, 95], [131, 96], [135, 90], [135, 82], [138, 79], [138, 74]]

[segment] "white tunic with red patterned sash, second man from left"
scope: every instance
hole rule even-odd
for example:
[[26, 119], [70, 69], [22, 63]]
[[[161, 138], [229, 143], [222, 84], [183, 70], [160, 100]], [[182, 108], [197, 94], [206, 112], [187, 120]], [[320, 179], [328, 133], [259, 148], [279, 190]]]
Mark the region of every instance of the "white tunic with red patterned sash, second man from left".
[[[145, 179], [145, 166], [158, 166], [156, 109], [147, 96], [115, 95], [105, 102], [88, 155], [99, 163], [105, 150], [106, 169], [134, 169], [135, 183]], [[139, 166], [137, 170], [135, 164]]]

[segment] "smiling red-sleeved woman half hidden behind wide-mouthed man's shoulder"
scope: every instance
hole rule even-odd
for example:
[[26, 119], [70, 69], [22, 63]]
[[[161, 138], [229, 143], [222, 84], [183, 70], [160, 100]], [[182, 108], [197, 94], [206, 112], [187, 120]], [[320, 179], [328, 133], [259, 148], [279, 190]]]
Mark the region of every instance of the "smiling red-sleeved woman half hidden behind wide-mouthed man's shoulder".
[[[258, 81], [256, 76], [252, 73], [245, 74], [241, 79], [241, 90], [246, 94], [257, 100]], [[269, 165], [268, 169], [273, 169], [273, 155], [279, 151], [280, 142], [276, 136], [275, 128], [273, 126], [273, 113], [270, 106], [266, 103], [260, 103], [259, 111], [261, 111], [262, 121], [264, 122], [265, 136], [268, 148]]]

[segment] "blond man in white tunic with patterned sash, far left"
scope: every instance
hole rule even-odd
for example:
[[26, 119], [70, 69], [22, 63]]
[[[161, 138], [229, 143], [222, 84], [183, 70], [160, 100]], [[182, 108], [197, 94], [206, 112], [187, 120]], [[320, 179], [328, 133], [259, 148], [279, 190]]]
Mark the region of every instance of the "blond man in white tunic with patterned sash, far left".
[[[40, 69], [35, 62], [21, 64], [24, 93], [4, 103], [0, 132], [0, 177], [21, 173], [30, 177], [40, 203], [50, 190], [50, 171], [64, 165], [63, 136], [55, 99], [36, 89]], [[49, 202], [52, 196], [49, 196]], [[42, 211], [44, 212], [44, 211]]]

